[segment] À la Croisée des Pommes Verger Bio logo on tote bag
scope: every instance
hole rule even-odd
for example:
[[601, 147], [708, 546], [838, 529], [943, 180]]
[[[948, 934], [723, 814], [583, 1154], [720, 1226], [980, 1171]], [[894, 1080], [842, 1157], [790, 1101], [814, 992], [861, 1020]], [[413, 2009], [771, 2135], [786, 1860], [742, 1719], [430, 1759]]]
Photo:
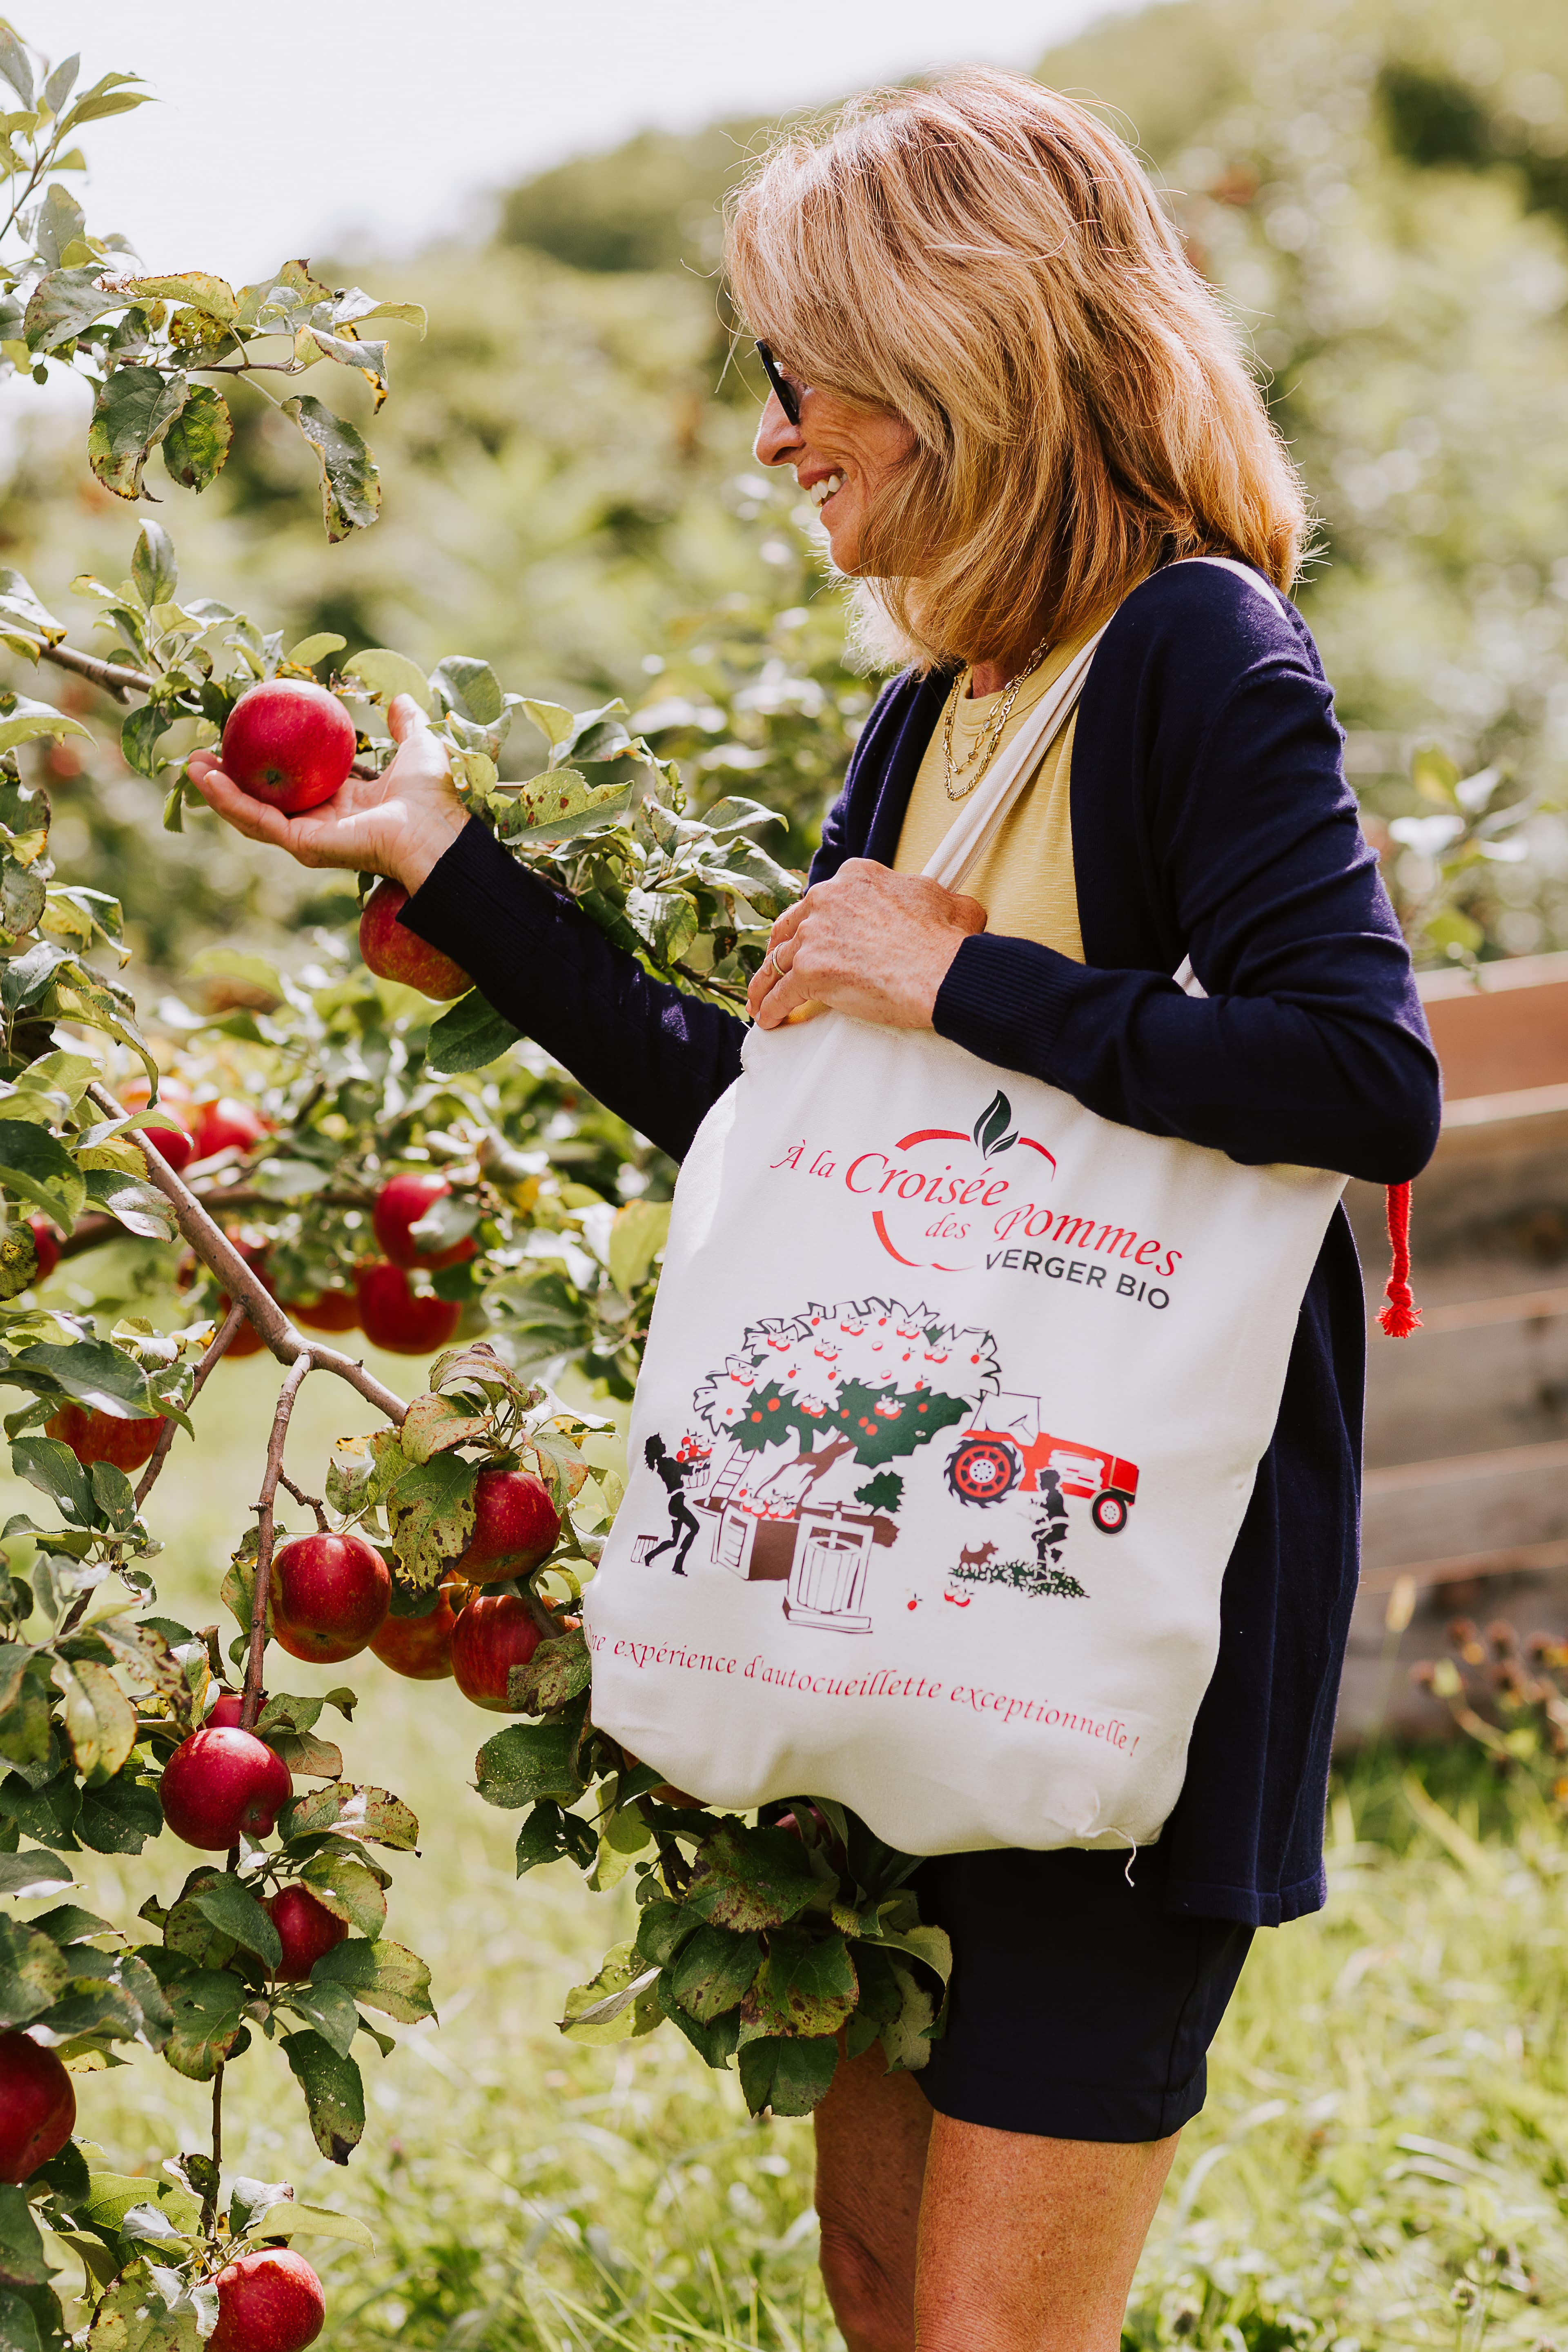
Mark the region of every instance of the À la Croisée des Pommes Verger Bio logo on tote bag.
[[[1006, 1160], [1030, 1152], [1030, 1160]], [[865, 1202], [889, 1258], [914, 1272], [1018, 1272], [1084, 1282], [1140, 1305], [1166, 1308], [1182, 1261], [1154, 1235], [1114, 1218], [1084, 1216], [1051, 1197], [1056, 1152], [1013, 1124], [997, 1089], [971, 1129], [917, 1127], [889, 1150], [792, 1143], [776, 1171], [842, 1183]]]

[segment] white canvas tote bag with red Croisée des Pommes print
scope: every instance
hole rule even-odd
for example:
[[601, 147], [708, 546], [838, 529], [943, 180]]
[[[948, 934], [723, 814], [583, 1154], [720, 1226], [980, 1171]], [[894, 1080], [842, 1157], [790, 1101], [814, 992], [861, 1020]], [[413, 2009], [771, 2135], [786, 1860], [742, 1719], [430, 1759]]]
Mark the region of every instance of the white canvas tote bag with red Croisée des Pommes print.
[[752, 1028], [675, 1190], [585, 1602], [595, 1722], [715, 1806], [832, 1797], [907, 1853], [1150, 1844], [1342, 1183], [929, 1030]]

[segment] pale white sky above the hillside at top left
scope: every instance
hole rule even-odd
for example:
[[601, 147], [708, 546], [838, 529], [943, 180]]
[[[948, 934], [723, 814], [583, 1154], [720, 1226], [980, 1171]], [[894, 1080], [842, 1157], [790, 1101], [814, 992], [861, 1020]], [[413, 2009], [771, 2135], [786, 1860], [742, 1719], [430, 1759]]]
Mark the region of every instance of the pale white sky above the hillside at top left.
[[[809, 106], [924, 66], [1032, 66], [1131, 0], [24, 0], [82, 85], [87, 219], [148, 270], [259, 278], [313, 247], [397, 256], [482, 230], [494, 191], [646, 127]], [[80, 193], [80, 183], [75, 183]]]

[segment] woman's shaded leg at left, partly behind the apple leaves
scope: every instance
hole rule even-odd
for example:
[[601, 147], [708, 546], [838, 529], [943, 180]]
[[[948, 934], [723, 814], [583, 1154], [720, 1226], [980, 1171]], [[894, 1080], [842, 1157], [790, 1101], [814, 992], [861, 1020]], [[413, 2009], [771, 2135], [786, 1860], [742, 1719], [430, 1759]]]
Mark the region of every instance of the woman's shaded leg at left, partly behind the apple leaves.
[[931, 2105], [882, 2049], [839, 2058], [816, 2110], [823, 2281], [849, 2352], [914, 2352], [914, 2249]]

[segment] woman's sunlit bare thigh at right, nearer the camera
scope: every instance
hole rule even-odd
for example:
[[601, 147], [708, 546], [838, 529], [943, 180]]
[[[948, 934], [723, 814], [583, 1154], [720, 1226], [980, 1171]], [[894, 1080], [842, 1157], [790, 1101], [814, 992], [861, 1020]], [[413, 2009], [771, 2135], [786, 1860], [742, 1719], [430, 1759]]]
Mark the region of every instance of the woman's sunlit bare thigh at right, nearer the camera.
[[[919, 2209], [919, 2352], [1117, 2352], [1180, 2133], [1041, 2140], [933, 2117]], [[825, 2267], [823, 2237], [823, 2267]], [[846, 2338], [858, 2352], [856, 2338]]]

